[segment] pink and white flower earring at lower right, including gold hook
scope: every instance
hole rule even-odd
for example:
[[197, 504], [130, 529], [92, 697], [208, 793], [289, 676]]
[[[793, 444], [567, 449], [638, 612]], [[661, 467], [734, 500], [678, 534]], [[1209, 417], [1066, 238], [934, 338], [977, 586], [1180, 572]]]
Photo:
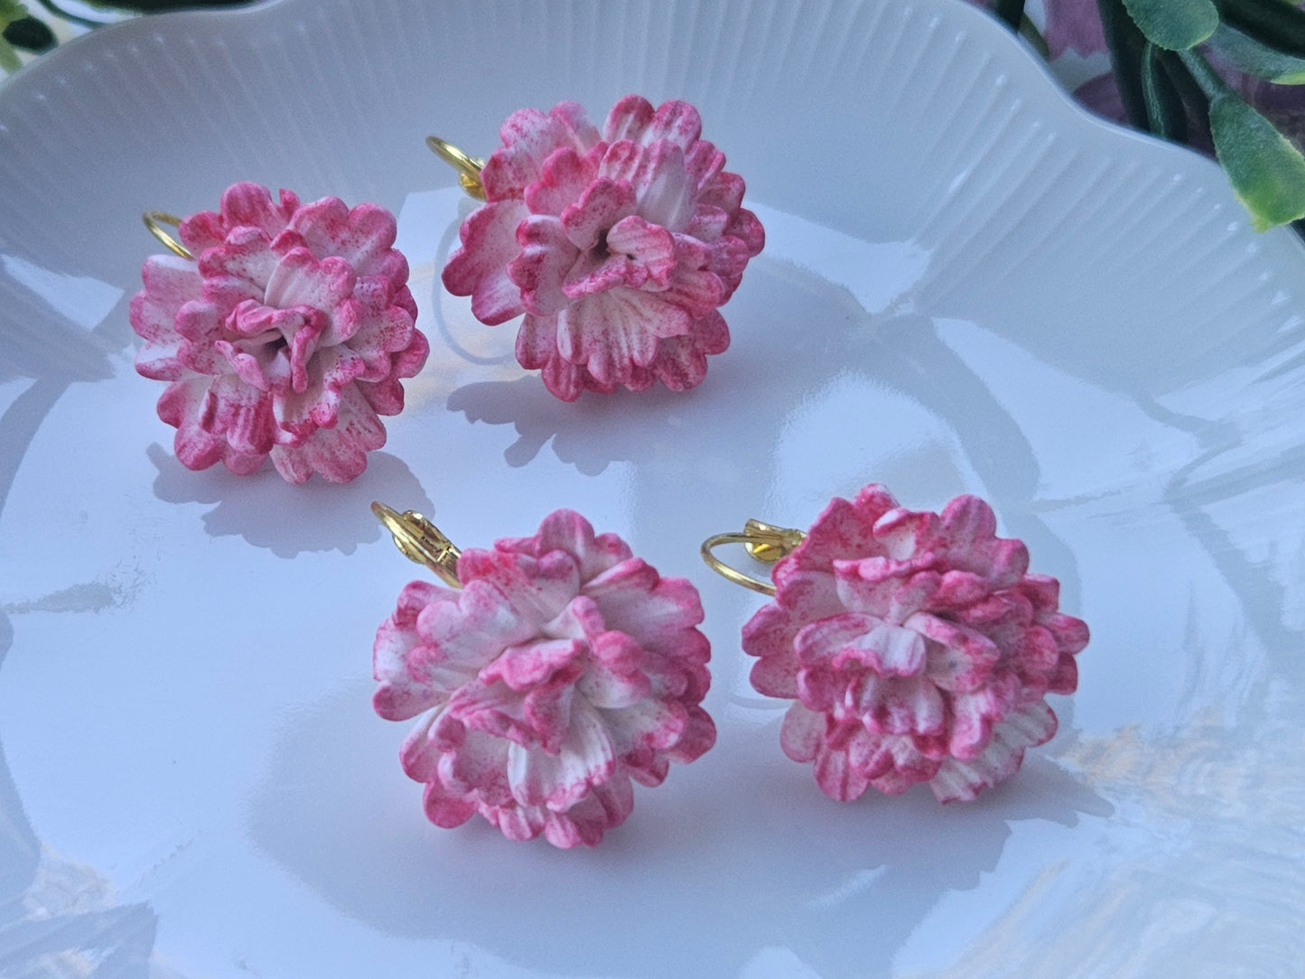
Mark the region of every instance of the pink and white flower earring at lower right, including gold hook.
[[[1060, 582], [1028, 573], [992, 508], [959, 496], [908, 510], [882, 486], [834, 499], [805, 534], [748, 521], [702, 556], [775, 597], [743, 628], [753, 687], [793, 701], [784, 753], [813, 762], [831, 799], [925, 782], [940, 801], [974, 799], [1056, 734], [1048, 693], [1073, 693], [1087, 625], [1058, 611]], [[773, 583], [722, 563], [741, 543], [778, 561]]]

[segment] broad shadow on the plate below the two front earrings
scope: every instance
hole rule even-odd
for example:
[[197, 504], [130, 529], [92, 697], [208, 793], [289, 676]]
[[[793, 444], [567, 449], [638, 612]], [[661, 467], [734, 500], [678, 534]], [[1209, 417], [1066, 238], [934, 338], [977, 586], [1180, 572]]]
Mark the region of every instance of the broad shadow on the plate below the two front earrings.
[[514, 843], [479, 817], [425, 822], [358, 683], [296, 714], [251, 799], [254, 843], [330, 905], [405, 939], [449, 939], [548, 972], [736, 975], [782, 944], [821, 975], [880, 975], [940, 897], [972, 889], [1011, 822], [1073, 826], [1109, 803], [1054, 764], [970, 805], [928, 791], [833, 803], [775, 726], [727, 731], [592, 851]]

